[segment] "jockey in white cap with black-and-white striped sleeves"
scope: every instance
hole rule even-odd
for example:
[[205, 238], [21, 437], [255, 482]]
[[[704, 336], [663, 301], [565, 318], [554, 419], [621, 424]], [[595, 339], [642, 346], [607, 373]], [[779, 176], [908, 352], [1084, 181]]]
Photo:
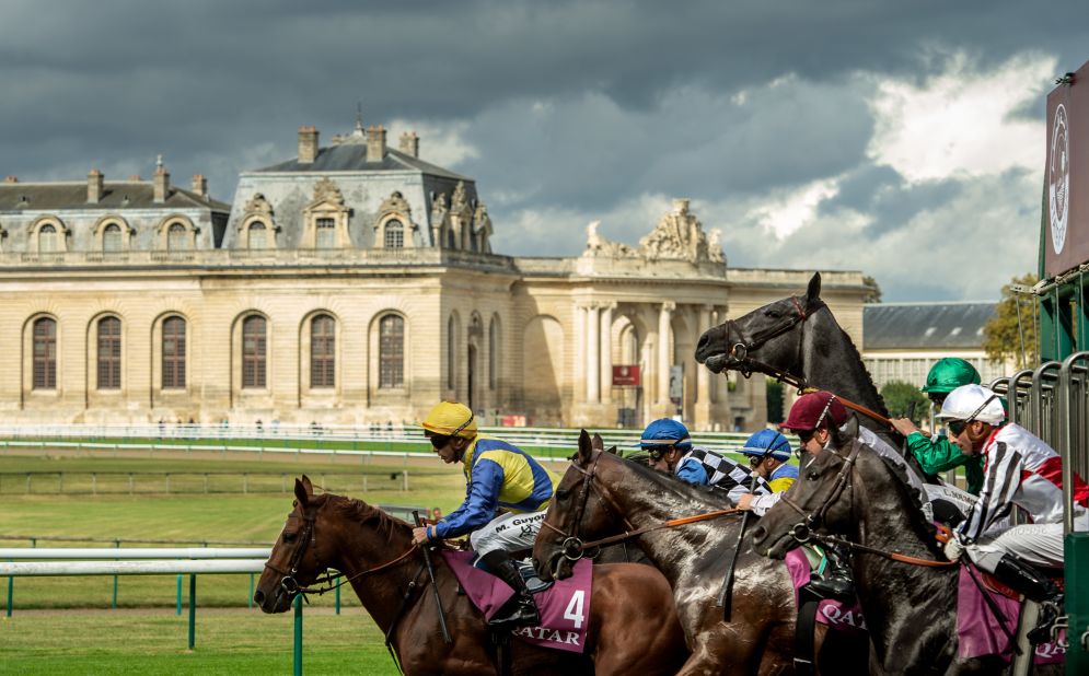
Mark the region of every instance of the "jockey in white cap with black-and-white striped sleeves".
[[[1063, 594], [1035, 567], [1063, 567], [1063, 459], [1019, 424], [1006, 422], [998, 395], [981, 385], [962, 385], [941, 405], [949, 440], [965, 455], [983, 457], [980, 498], [945, 546], [950, 561], [965, 551], [983, 570], [1041, 604], [1041, 619], [1029, 632], [1033, 643], [1046, 641], [1063, 610]], [[1089, 486], [1074, 475], [1074, 518], [1089, 528]], [[1013, 505], [1029, 513], [1031, 524], [1000, 534], [988, 526]]]

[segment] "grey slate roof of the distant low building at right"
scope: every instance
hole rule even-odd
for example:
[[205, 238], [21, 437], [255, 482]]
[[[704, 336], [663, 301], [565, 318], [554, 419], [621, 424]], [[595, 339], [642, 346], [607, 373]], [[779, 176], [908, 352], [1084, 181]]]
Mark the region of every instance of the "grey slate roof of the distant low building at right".
[[865, 350], [982, 349], [998, 303], [874, 303], [862, 306]]

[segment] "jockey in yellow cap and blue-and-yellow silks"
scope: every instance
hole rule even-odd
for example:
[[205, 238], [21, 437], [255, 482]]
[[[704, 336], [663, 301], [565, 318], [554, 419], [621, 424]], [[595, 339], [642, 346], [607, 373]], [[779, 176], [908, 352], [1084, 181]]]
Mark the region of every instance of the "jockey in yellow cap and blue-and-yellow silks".
[[433, 526], [413, 528], [413, 541], [424, 545], [468, 534], [478, 555], [474, 566], [489, 570], [514, 590], [489, 625], [541, 623], [533, 595], [509, 552], [533, 547], [555, 478], [521, 448], [477, 434], [473, 412], [462, 404], [440, 403], [421, 426], [442, 462], [462, 463], [466, 489], [460, 508]]

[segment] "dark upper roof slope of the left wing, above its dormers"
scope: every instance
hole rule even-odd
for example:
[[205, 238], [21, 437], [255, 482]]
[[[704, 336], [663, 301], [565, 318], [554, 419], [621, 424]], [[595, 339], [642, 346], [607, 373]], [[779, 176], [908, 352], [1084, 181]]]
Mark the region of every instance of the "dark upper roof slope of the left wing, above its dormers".
[[85, 180], [0, 184], [0, 211], [124, 209], [210, 209], [228, 212], [231, 206], [175, 186], [171, 186], [165, 201], [157, 202], [154, 185], [150, 180], [107, 180], [97, 202], [86, 201]]

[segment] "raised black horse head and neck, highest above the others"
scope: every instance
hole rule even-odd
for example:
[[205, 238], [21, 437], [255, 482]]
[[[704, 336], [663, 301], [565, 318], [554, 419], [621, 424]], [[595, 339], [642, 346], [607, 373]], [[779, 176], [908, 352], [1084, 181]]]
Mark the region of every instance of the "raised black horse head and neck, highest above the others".
[[[806, 295], [768, 303], [699, 337], [696, 361], [714, 373], [740, 371], [826, 389], [888, 418], [889, 411], [862, 364], [858, 348], [821, 300], [821, 273]], [[862, 424], [900, 447], [902, 438], [870, 418]]]

